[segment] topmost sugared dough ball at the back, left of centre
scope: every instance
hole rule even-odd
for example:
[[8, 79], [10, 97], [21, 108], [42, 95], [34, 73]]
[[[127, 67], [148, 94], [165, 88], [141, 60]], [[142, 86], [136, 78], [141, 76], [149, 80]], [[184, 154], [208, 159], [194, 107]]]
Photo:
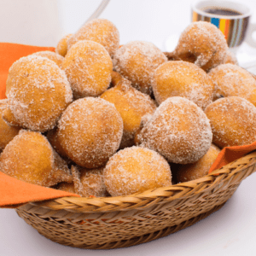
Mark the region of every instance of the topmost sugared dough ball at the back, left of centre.
[[90, 40], [102, 44], [107, 49], [108, 54], [113, 57], [119, 48], [119, 31], [109, 20], [90, 20], [67, 40], [68, 50], [79, 40]]

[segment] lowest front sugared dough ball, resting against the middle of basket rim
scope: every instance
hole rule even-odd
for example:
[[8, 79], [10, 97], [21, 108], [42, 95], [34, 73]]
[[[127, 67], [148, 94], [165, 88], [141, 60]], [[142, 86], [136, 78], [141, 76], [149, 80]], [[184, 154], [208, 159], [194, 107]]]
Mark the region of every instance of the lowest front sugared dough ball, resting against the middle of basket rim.
[[130, 195], [171, 186], [172, 173], [160, 154], [148, 148], [131, 147], [110, 158], [104, 180], [110, 195]]

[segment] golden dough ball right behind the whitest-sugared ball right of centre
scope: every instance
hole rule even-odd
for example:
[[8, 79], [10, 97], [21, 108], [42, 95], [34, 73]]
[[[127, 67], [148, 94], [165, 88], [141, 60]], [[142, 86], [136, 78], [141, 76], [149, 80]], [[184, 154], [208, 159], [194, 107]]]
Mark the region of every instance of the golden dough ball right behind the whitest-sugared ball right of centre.
[[183, 96], [200, 108], [212, 102], [214, 84], [200, 67], [186, 61], [168, 61], [158, 67], [152, 79], [156, 101]]

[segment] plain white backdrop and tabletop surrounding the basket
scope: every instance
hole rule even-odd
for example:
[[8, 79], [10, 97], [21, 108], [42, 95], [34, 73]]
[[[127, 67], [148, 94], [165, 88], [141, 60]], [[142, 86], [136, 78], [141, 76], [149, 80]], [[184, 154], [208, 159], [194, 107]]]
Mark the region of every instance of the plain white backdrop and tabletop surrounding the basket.
[[[75, 32], [99, 0], [0, 0], [0, 42], [55, 46], [61, 36]], [[236, 1], [254, 11], [255, 0]], [[101, 17], [113, 21], [120, 44], [145, 40], [164, 49], [171, 34], [190, 22], [189, 0], [112, 0]], [[241, 55], [250, 53], [244, 45]], [[252, 49], [254, 54], [255, 49]], [[243, 59], [244, 59], [243, 58]], [[0, 195], [1, 196], [1, 195]], [[136, 247], [110, 251], [80, 250], [49, 241], [33, 230], [15, 210], [0, 209], [0, 256], [70, 255], [256, 255], [256, 175], [247, 177], [218, 212], [171, 236]]]

